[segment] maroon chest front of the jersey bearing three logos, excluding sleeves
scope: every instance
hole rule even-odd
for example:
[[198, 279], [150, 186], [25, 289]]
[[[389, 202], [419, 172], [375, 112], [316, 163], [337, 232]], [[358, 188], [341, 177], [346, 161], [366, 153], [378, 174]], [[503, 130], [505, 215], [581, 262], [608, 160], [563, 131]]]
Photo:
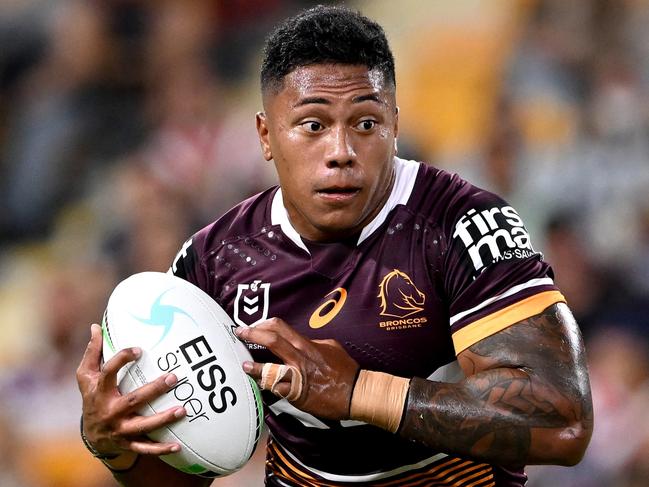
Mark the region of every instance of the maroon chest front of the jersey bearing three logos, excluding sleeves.
[[[207, 262], [220, 281], [213, 295], [238, 325], [278, 317], [309, 338], [337, 340], [363, 368], [403, 376], [427, 377], [454, 358], [433, 229], [404, 217], [361, 245], [310, 253], [270, 232]], [[251, 353], [272, 360], [265, 349]]]

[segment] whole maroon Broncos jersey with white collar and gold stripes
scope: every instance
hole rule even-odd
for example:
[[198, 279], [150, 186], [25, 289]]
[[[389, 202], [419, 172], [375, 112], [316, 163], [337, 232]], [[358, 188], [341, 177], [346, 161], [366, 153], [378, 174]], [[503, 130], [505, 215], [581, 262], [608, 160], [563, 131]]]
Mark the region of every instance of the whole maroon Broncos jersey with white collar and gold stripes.
[[[188, 240], [172, 271], [240, 326], [280, 317], [333, 338], [364, 369], [458, 381], [456, 355], [562, 301], [516, 211], [457, 175], [395, 159], [384, 208], [359, 235], [302, 239], [279, 188]], [[258, 362], [279, 360], [250, 345]], [[358, 421], [321, 420], [264, 393], [272, 485], [522, 486], [522, 470], [433, 451]]]

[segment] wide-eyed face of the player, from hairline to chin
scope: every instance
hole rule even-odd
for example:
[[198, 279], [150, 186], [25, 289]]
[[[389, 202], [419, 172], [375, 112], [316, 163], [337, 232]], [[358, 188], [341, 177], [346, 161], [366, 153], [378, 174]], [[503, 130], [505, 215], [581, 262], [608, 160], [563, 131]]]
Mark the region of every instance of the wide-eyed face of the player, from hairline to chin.
[[335, 240], [379, 212], [394, 180], [394, 88], [365, 66], [316, 64], [264, 95], [257, 130], [300, 235]]

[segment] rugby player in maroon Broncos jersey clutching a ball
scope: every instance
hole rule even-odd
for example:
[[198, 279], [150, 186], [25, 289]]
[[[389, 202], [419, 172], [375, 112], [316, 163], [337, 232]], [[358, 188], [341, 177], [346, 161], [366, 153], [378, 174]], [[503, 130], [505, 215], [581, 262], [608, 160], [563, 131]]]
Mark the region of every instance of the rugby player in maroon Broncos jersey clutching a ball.
[[[514, 208], [397, 157], [382, 28], [338, 7], [286, 20], [261, 89], [279, 187], [193, 235], [171, 272], [213, 296], [251, 350], [266, 485], [514, 487], [525, 465], [579, 462], [593, 414], [578, 326]], [[133, 415], [173, 377], [130, 403], [99, 387], [136, 351], [101, 369], [92, 330], [78, 380], [95, 454], [127, 486], [209, 485], [156, 458], [178, 445], [143, 436], [177, 409]]]

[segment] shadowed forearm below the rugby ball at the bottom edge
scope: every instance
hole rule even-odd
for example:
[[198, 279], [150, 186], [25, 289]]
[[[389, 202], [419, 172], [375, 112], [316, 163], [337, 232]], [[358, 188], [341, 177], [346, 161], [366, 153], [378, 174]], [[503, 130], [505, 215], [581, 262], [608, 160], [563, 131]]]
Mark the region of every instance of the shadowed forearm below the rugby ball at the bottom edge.
[[111, 471], [113, 477], [124, 487], [207, 487], [211, 479], [188, 475], [164, 463], [159, 458], [140, 455], [137, 463], [124, 472]]

